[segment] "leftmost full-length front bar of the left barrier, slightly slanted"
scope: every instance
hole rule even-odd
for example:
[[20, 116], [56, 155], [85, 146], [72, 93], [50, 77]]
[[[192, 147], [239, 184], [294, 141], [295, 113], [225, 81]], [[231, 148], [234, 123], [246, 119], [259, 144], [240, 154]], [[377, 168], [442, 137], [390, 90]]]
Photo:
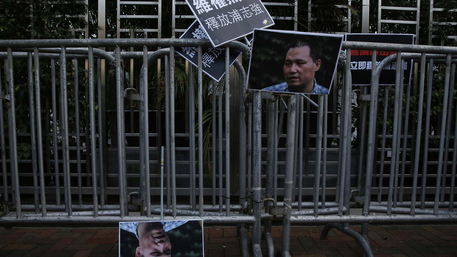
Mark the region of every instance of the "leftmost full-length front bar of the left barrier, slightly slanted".
[[21, 193], [19, 190], [19, 169], [17, 166], [17, 140], [16, 140], [16, 106], [14, 101], [14, 72], [13, 72], [13, 51], [7, 48], [8, 56], [8, 86], [10, 91], [9, 128], [10, 128], [10, 164], [11, 177], [14, 186], [14, 200], [16, 205], [16, 216], [21, 216]]

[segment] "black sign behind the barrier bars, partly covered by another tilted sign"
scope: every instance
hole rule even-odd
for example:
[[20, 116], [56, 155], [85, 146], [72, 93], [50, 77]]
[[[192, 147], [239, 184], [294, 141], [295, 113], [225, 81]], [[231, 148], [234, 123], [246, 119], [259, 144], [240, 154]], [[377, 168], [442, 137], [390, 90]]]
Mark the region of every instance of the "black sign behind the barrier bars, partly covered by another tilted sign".
[[[202, 26], [194, 21], [192, 25], [181, 35], [180, 38], [208, 38], [202, 30]], [[175, 48], [176, 52], [188, 60], [191, 64], [198, 66], [198, 49], [196, 47]], [[230, 49], [228, 63], [232, 65], [241, 54], [241, 51]], [[225, 74], [225, 48], [211, 47], [202, 48], [202, 71], [213, 80], [221, 80]]]

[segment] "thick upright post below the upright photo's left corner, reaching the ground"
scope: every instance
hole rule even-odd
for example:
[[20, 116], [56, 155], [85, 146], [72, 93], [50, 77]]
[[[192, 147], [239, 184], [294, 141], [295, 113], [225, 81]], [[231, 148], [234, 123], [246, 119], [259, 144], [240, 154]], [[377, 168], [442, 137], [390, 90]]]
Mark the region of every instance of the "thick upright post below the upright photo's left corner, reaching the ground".
[[[226, 49], [227, 50], [227, 49]], [[252, 243], [254, 245], [260, 245], [260, 194], [261, 194], [261, 133], [262, 133], [262, 100], [260, 99], [260, 91], [253, 92], [254, 94], [254, 122], [253, 122], [253, 197], [254, 206], [253, 214], [255, 217], [254, 233]], [[229, 205], [227, 205], [228, 207]], [[226, 208], [227, 208], [226, 207]]]

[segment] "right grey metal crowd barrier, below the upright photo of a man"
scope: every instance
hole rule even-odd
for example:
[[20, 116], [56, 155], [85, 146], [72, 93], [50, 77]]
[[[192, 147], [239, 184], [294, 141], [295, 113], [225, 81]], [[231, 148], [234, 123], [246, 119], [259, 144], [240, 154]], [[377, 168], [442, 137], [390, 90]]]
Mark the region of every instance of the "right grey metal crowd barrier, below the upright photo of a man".
[[[357, 42], [344, 42], [343, 49], [346, 49], [346, 63], [343, 67], [343, 75], [345, 78], [344, 86], [341, 90], [341, 123], [340, 123], [340, 148], [339, 148], [339, 161], [338, 161], [338, 175], [337, 175], [337, 186], [336, 195], [334, 202], [326, 202], [326, 154], [327, 154], [327, 140], [326, 129], [327, 122], [327, 96], [319, 96], [318, 101], [318, 112], [317, 121], [315, 123], [317, 127], [316, 135], [316, 161], [314, 171], [314, 188], [313, 197], [310, 202], [303, 202], [302, 190], [302, 175], [303, 166], [302, 158], [296, 158], [303, 156], [303, 98], [304, 95], [281, 95], [276, 93], [260, 93], [253, 92], [253, 129], [252, 129], [252, 140], [253, 140], [253, 172], [259, 168], [260, 163], [260, 133], [261, 127], [259, 118], [261, 117], [261, 101], [260, 99], [266, 98], [268, 101], [266, 104], [266, 134], [267, 134], [267, 176], [266, 176], [266, 198], [264, 199], [266, 208], [266, 214], [262, 214], [262, 219], [265, 221], [265, 239], [269, 250], [269, 256], [281, 255], [291, 256], [289, 251], [290, 231], [292, 224], [325, 224], [325, 227], [321, 233], [321, 238], [325, 239], [328, 235], [329, 230], [336, 229], [345, 233], [348, 236], [353, 237], [358, 241], [366, 256], [373, 256], [369, 241], [368, 241], [368, 224], [369, 223], [446, 223], [456, 222], [457, 213], [453, 207], [456, 206], [457, 202], [454, 201], [455, 194], [455, 174], [456, 174], [456, 162], [457, 162], [457, 126], [455, 122], [452, 122], [452, 101], [453, 91], [455, 84], [455, 65], [457, 63], [457, 48], [454, 47], [435, 47], [435, 46], [418, 46], [418, 45], [401, 45], [401, 44], [383, 44], [383, 43], [357, 43]], [[357, 161], [356, 165], [351, 163], [351, 124], [352, 124], [352, 105], [353, 105], [353, 94], [357, 91], [352, 90], [351, 83], [351, 70], [349, 63], [351, 62], [351, 49], [357, 50], [370, 50], [372, 53], [372, 69], [371, 75], [371, 86], [368, 90], [364, 90], [363, 86], [359, 92], [364, 92], [357, 97], [360, 108], [359, 127], [361, 130], [357, 131], [357, 138], [361, 143], [357, 150]], [[396, 51], [397, 54], [393, 54], [383, 59], [379, 64], [376, 64], [377, 51]], [[383, 74], [382, 70], [386, 64], [396, 60], [396, 64], [401, 64], [399, 67], [403, 67], [404, 61], [414, 59], [415, 62], [420, 64], [420, 78], [419, 88], [417, 92], [419, 94], [417, 99], [417, 120], [413, 123], [415, 129], [413, 129], [413, 136], [408, 135], [408, 126], [410, 125], [409, 119], [409, 105], [410, 105], [410, 88], [409, 85], [403, 85], [403, 69], [397, 69], [396, 71], [396, 84], [395, 98], [393, 105], [393, 131], [391, 133], [392, 138], [392, 157], [389, 163], [389, 173], [384, 174], [383, 168], [386, 166], [384, 155], [386, 149], [386, 124], [387, 124], [387, 112], [388, 108], [388, 90], [385, 90], [384, 96], [384, 116], [382, 128], [382, 134], [377, 134], [377, 103], [378, 103], [378, 92], [379, 92], [379, 77]], [[433, 72], [438, 69], [439, 66], [436, 64], [444, 64], [445, 77], [443, 84], [442, 94], [442, 112], [441, 121], [439, 123], [439, 154], [438, 160], [432, 160], [431, 162], [437, 165], [436, 175], [430, 176], [427, 174], [427, 165], [430, 164], [430, 160], [427, 160], [429, 152], [428, 141], [430, 135], [430, 96], [432, 93], [432, 82]], [[425, 111], [425, 125], [422, 124], [423, 119], [423, 107], [424, 107], [424, 93], [425, 93], [425, 66], [429, 64], [428, 71], [428, 84], [427, 84], [427, 96], [426, 111]], [[435, 64], [435, 66], [434, 66]], [[388, 86], [384, 86], [387, 88]], [[367, 88], [367, 86], [365, 86]], [[406, 89], [406, 106], [405, 111], [403, 110], [403, 99], [404, 91]], [[336, 90], [336, 89], [333, 89]], [[278, 190], [277, 183], [277, 133], [278, 124], [282, 126], [282, 120], [284, 115], [284, 108], [280, 112], [278, 123], [278, 104], [283, 105], [281, 101], [287, 101], [287, 141], [286, 141], [286, 156], [285, 156], [285, 175], [284, 175], [284, 198], [283, 202], [277, 202], [278, 199], [276, 191]], [[278, 103], [279, 102], [279, 103]], [[368, 104], [369, 103], [369, 104]], [[367, 112], [368, 111], [368, 112]], [[389, 110], [390, 111], [390, 110]], [[365, 126], [368, 118], [368, 126]], [[457, 115], [457, 113], [456, 113]], [[402, 117], [404, 116], [404, 128], [402, 131]], [[285, 118], [284, 118], [285, 119]], [[457, 117], [456, 117], [457, 119]], [[414, 126], [413, 126], [414, 128]], [[454, 134], [451, 135], [451, 129], [454, 130]], [[281, 128], [279, 129], [281, 131]], [[298, 131], [298, 133], [297, 133]], [[297, 141], [298, 135], [298, 141]], [[250, 140], [248, 134], [248, 141]], [[367, 139], [365, 138], [367, 137]], [[425, 137], [425, 145], [422, 146], [420, 141]], [[377, 161], [378, 158], [378, 143], [381, 139], [381, 161]], [[406, 152], [407, 152], [407, 140], [411, 139], [412, 142], [411, 151], [412, 156], [412, 168], [411, 174], [408, 176], [412, 179], [411, 186], [407, 188], [405, 186], [405, 165]], [[448, 162], [448, 153], [451, 151], [449, 147], [450, 142], [453, 139], [452, 147], [452, 162]], [[366, 140], [366, 141], [364, 141]], [[324, 141], [324, 147], [322, 148], [322, 142]], [[400, 164], [400, 145], [403, 144], [401, 168]], [[365, 146], [367, 146], [365, 150]], [[298, 148], [298, 150], [297, 150]], [[421, 155], [422, 152], [422, 156]], [[423, 159], [421, 159], [421, 157]], [[298, 163], [297, 163], [298, 162]], [[271, 164], [272, 167], [271, 167]], [[422, 164], [422, 174], [419, 173], [420, 164]], [[451, 174], [449, 176], [446, 173], [448, 166], [452, 164]], [[298, 165], [298, 169], [297, 169]], [[380, 166], [378, 174], [373, 173]], [[356, 168], [356, 175], [351, 175], [351, 168]], [[298, 177], [297, 177], [298, 173]], [[430, 172], [429, 172], [430, 173]], [[248, 172], [249, 174], [249, 172]], [[356, 178], [355, 182], [351, 182], [351, 177]], [[388, 187], [383, 186], [383, 178], [388, 177]], [[427, 180], [427, 177], [429, 180]], [[430, 187], [430, 177], [436, 180], [436, 183]], [[421, 184], [418, 185], [418, 180], [421, 178]], [[298, 179], [298, 181], [297, 181]], [[322, 180], [322, 185], [320, 181]], [[376, 180], [378, 180], [377, 183]], [[374, 182], [373, 182], [374, 181]], [[448, 184], [446, 184], [448, 183]], [[446, 187], [446, 185], [449, 185]], [[417, 187], [420, 187], [418, 190]], [[427, 187], [429, 186], [429, 187]], [[408, 190], [407, 190], [408, 189]], [[255, 187], [254, 187], [255, 190]], [[296, 194], [298, 190], [298, 195]], [[388, 193], [386, 192], [388, 191]], [[426, 201], [427, 198], [434, 192], [434, 201]], [[420, 194], [420, 201], [416, 202], [417, 195]], [[319, 195], [321, 195], [319, 201]], [[269, 199], [273, 197], [272, 199]], [[387, 200], [385, 200], [387, 199]], [[273, 206], [271, 206], [273, 204]], [[304, 210], [306, 208], [306, 210]], [[361, 208], [362, 214], [351, 214], [351, 209]], [[417, 208], [417, 209], [416, 209]], [[441, 209], [444, 208], [444, 209]], [[283, 229], [282, 229], [282, 247], [276, 249], [275, 253], [274, 245], [271, 240], [271, 221], [270, 219], [278, 218], [282, 215]], [[349, 224], [358, 223], [361, 224], [361, 233], [349, 228]], [[297, 254], [297, 253], [294, 253]]]

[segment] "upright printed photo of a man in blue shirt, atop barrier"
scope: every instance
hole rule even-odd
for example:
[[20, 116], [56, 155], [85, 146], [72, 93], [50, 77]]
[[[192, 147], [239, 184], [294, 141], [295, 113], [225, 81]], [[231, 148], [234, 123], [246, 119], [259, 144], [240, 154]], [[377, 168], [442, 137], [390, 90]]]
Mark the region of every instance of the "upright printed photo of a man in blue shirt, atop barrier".
[[248, 89], [329, 94], [342, 35], [255, 29]]

